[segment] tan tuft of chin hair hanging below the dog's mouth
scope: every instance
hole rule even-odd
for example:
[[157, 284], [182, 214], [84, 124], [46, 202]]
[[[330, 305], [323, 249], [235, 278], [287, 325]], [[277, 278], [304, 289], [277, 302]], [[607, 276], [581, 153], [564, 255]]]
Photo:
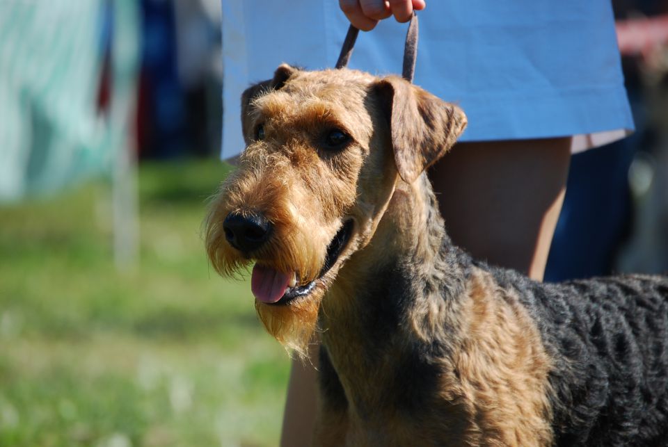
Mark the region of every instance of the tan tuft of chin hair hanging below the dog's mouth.
[[321, 293], [294, 304], [269, 305], [255, 301], [255, 310], [267, 332], [291, 354], [308, 359], [308, 346], [317, 329]]

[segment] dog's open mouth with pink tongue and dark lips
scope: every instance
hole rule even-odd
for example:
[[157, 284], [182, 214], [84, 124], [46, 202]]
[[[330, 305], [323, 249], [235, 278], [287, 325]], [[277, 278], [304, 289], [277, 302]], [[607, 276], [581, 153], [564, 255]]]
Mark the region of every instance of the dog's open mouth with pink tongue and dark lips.
[[[351, 235], [353, 234], [353, 220], [347, 220], [342, 225], [341, 229], [337, 231], [332, 241], [327, 247], [327, 255], [324, 266], [316, 279], [297, 286], [295, 279], [283, 273], [276, 272], [271, 268], [255, 264], [253, 268], [253, 277], [251, 278], [250, 287], [253, 290], [253, 295], [258, 300], [266, 304], [285, 305], [311, 293], [317, 285], [317, 282], [335, 265], [341, 253], [348, 245]], [[290, 282], [293, 283], [290, 286]]]

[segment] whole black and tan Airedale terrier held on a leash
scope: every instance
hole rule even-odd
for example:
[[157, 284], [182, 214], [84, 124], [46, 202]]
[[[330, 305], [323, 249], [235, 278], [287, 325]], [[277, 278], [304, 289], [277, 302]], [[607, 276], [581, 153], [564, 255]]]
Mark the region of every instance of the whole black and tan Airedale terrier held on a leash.
[[321, 341], [323, 446], [668, 445], [668, 279], [541, 284], [471, 259], [424, 173], [466, 127], [396, 76], [281, 65], [206, 221], [267, 330]]

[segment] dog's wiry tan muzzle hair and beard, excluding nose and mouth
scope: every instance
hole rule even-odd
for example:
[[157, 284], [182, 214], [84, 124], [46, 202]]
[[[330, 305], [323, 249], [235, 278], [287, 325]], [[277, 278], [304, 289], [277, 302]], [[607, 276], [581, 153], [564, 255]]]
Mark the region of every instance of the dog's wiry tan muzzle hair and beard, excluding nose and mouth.
[[[299, 183], [260, 181], [265, 177], [289, 178], [278, 168], [280, 163], [276, 161], [271, 176], [255, 169], [238, 172], [223, 184], [212, 204], [205, 222], [205, 242], [209, 260], [221, 275], [234, 276], [247, 269], [255, 259], [267, 268], [294, 273], [298, 284], [318, 280], [338, 222], [314, 220], [314, 216], [322, 215], [323, 206], [320, 202], [308, 200], [308, 190]], [[285, 169], [292, 170], [292, 167]], [[253, 259], [247, 259], [234, 250], [226, 241], [223, 229], [223, 221], [230, 211], [243, 212], [244, 209], [262, 211], [273, 224], [271, 241], [254, 252]], [[266, 304], [256, 299], [255, 309], [269, 334], [287, 350], [305, 359], [308, 344], [317, 330], [323, 295], [324, 290], [317, 286], [308, 295], [286, 304], [280, 301]]]

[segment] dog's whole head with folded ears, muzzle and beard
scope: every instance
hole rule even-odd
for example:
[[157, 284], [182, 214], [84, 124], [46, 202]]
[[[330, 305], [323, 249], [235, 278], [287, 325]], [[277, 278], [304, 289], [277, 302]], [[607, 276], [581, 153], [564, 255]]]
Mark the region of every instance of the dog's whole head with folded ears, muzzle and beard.
[[466, 127], [456, 106], [399, 77], [281, 65], [241, 99], [246, 150], [207, 218], [209, 259], [251, 288], [267, 330], [303, 354], [342, 264]]

